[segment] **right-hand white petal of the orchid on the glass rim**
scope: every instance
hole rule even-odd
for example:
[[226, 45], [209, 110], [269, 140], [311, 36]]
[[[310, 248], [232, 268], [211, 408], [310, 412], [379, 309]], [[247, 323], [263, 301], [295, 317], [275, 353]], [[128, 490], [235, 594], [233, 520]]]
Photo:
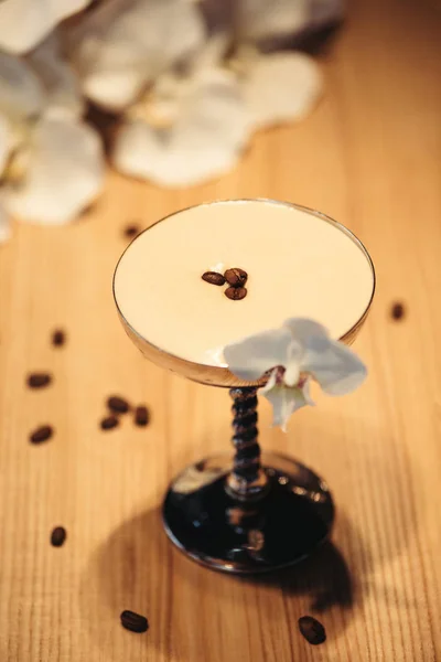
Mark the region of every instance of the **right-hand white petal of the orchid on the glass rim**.
[[329, 395], [351, 393], [366, 378], [361, 359], [342, 342], [332, 340], [322, 324], [291, 319], [284, 327], [303, 348], [301, 371], [311, 374]]

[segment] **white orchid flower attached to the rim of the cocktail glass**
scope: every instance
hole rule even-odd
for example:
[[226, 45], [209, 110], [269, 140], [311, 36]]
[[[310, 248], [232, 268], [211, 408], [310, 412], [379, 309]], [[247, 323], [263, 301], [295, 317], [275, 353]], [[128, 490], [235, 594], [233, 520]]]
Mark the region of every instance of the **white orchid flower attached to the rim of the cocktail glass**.
[[230, 372], [240, 380], [256, 382], [269, 374], [260, 393], [273, 407], [275, 425], [283, 430], [297, 409], [314, 404], [311, 378], [329, 395], [345, 395], [355, 391], [367, 374], [349, 348], [332, 340], [318, 322], [302, 318], [229, 344], [224, 356]]

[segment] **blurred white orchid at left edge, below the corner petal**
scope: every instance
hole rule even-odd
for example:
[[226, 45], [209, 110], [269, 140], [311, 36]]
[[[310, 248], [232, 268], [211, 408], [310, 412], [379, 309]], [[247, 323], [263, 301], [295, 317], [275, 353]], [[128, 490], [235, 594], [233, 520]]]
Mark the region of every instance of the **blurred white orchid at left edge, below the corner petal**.
[[[35, 223], [75, 218], [104, 181], [76, 78], [52, 36], [26, 58], [0, 53], [0, 205]], [[0, 233], [4, 236], [4, 231]]]

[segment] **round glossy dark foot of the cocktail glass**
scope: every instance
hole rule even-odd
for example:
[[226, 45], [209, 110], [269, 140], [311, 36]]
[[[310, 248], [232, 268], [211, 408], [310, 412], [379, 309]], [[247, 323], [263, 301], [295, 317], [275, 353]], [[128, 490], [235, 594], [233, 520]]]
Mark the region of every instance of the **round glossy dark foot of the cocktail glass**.
[[306, 558], [331, 533], [327, 485], [286, 456], [263, 452], [262, 467], [268, 490], [249, 503], [225, 490], [230, 456], [184, 469], [163, 505], [170, 540], [194, 560], [226, 573], [266, 573]]

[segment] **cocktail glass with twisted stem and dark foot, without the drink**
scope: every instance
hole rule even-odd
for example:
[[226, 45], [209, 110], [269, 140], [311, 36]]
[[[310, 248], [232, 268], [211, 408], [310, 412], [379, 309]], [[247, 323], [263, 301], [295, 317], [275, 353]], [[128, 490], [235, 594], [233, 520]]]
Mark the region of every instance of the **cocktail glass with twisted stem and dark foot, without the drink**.
[[[340, 338], [344, 343], [352, 344], [366, 320], [375, 291], [374, 266], [366, 248], [340, 223], [300, 205], [263, 200], [218, 201], [198, 205], [198, 209], [257, 202], [289, 206], [331, 224], [335, 232], [344, 233], [353, 242], [361, 259], [367, 261], [372, 275], [370, 296], [363, 313]], [[158, 223], [168, 223], [175, 216], [172, 214]], [[142, 235], [149, 232], [150, 228]], [[130, 246], [136, 242], [139, 242], [139, 237]], [[161, 349], [137, 330], [127, 318], [118, 295], [119, 269], [130, 246], [121, 256], [114, 275], [115, 301], [129, 338], [157, 365], [194, 382], [229, 388], [233, 399], [233, 460], [228, 453], [203, 459], [185, 468], [172, 481], [163, 503], [166, 534], [194, 560], [228, 573], [263, 573], [302, 560], [329, 537], [332, 530], [334, 503], [326, 482], [294, 459], [260, 451], [257, 393], [265, 385], [265, 377], [258, 382], [244, 382], [229, 372], [225, 364], [189, 361]], [[244, 266], [245, 261], [244, 257]], [[351, 278], [351, 274], [347, 277]], [[146, 287], [152, 285], [146, 284]], [[223, 295], [219, 292], [218, 296]], [[239, 305], [240, 301], [232, 301], [232, 306]], [[201, 314], [204, 314], [203, 310]], [[180, 333], [179, 328], [175, 333]], [[241, 337], [241, 329], [237, 329], [237, 338]]]

